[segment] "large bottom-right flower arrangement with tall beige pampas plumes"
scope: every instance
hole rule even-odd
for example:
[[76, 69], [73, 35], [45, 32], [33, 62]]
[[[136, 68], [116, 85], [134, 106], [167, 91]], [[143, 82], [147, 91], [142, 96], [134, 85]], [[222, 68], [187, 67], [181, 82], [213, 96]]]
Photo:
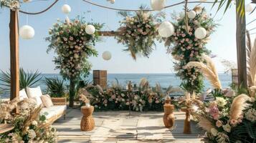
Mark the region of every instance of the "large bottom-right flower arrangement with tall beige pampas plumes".
[[[256, 43], [256, 42], [255, 42]], [[249, 55], [256, 55], [256, 47]], [[216, 69], [212, 60], [204, 56], [206, 63], [199, 61], [189, 62], [185, 68], [194, 66], [200, 69], [204, 76], [209, 79], [214, 87], [211, 92], [214, 99], [210, 102], [196, 106], [191, 100], [191, 113], [198, 119], [199, 127], [207, 132], [204, 142], [255, 142], [256, 141], [256, 102], [255, 89], [251, 84], [244, 94], [236, 93], [232, 89], [222, 89], [221, 83], [216, 74]], [[255, 61], [249, 58], [248, 63]], [[255, 62], [253, 62], [255, 63]], [[250, 78], [255, 78], [255, 64], [250, 65]], [[255, 79], [253, 79], [255, 83]], [[194, 107], [192, 107], [194, 105]]]

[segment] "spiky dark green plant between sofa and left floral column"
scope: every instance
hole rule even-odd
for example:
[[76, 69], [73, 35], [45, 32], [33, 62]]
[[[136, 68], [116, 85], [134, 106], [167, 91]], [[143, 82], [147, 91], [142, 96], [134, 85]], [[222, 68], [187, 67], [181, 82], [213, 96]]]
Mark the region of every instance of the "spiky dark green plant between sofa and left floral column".
[[44, 84], [47, 85], [47, 94], [51, 97], [64, 97], [66, 91], [65, 81], [59, 78], [45, 78]]

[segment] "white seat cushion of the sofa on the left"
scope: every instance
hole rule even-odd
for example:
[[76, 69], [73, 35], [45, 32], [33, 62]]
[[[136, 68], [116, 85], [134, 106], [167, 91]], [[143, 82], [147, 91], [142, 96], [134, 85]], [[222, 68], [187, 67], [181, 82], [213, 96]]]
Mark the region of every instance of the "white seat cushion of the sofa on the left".
[[46, 119], [57, 117], [58, 114], [62, 114], [67, 109], [66, 105], [54, 105], [49, 108], [42, 108], [40, 114], [44, 114]]

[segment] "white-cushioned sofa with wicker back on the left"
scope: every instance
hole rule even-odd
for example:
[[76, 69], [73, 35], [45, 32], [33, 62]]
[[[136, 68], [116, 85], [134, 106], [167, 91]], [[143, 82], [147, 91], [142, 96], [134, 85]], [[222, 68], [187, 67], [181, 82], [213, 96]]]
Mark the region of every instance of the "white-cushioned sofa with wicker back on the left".
[[[19, 98], [20, 99], [26, 99], [26, 98], [33, 98], [37, 102], [37, 106], [39, 106], [42, 103], [42, 91], [40, 87], [36, 88], [27, 88], [27, 92], [25, 89], [22, 89], [19, 91]], [[52, 107], [43, 107], [40, 114], [44, 114], [47, 123], [52, 124], [54, 121], [59, 119], [60, 117], [64, 116], [66, 114], [67, 110], [67, 101], [66, 98], [51, 98], [52, 103], [54, 104]]]

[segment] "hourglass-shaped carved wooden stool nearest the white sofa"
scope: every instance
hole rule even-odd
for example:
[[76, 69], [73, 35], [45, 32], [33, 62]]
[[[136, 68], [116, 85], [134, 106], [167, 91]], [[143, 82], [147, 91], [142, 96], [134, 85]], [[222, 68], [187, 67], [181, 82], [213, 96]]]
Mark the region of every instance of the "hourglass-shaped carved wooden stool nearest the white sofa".
[[83, 114], [81, 124], [80, 124], [81, 131], [91, 131], [94, 129], [95, 122], [93, 119], [93, 110], [94, 110], [93, 106], [81, 107], [81, 112]]

